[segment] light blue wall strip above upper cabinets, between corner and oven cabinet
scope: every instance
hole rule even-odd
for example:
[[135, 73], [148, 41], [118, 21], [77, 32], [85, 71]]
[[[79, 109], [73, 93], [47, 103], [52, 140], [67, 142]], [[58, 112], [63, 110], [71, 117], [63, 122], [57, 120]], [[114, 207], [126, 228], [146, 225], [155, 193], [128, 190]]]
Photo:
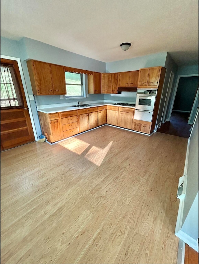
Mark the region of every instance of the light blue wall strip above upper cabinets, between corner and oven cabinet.
[[167, 52], [150, 54], [142, 57], [124, 59], [106, 64], [107, 73], [136, 71], [141, 68], [163, 66], [166, 62]]

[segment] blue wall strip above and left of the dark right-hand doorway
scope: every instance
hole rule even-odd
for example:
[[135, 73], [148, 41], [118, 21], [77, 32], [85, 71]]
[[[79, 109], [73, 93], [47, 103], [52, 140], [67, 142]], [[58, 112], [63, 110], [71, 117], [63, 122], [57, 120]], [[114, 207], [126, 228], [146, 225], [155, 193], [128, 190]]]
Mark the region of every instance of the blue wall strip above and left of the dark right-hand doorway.
[[178, 67], [178, 71], [176, 73], [176, 78], [175, 78], [175, 81], [174, 81], [174, 86], [173, 86], [173, 89], [172, 89], [170, 97], [169, 97], [169, 105], [168, 105], [167, 113], [166, 113], [166, 118], [167, 119], [168, 119], [169, 112], [170, 112], [170, 109], [171, 109], [172, 99], [174, 97], [174, 90], [175, 90], [175, 87], [176, 87], [178, 76], [179, 75], [191, 75], [191, 74], [198, 74], [198, 64]]

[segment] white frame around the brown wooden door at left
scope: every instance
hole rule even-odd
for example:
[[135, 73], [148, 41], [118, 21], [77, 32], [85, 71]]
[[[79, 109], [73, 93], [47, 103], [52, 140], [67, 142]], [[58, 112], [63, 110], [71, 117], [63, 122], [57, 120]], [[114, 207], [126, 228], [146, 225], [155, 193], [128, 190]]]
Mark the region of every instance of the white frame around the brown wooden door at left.
[[25, 99], [27, 101], [28, 111], [29, 111], [29, 114], [30, 114], [30, 121], [31, 121], [31, 124], [32, 124], [32, 129], [33, 129], [33, 133], [34, 133], [34, 136], [35, 136], [35, 141], [37, 141], [38, 138], [37, 138], [35, 123], [34, 123], [34, 119], [33, 119], [33, 114], [32, 114], [32, 111], [31, 111], [30, 99], [29, 99], [29, 96], [28, 96], [28, 91], [27, 91], [27, 87], [26, 87], [26, 83], [25, 83], [24, 74], [23, 74], [23, 69], [22, 69], [22, 66], [21, 66], [21, 60], [20, 60], [20, 58], [15, 58], [15, 57], [5, 56], [5, 55], [1, 55], [1, 58], [2, 59], [16, 60], [18, 62], [19, 72], [20, 72], [20, 75], [21, 75], [21, 81], [22, 81], [23, 88], [24, 88], [24, 93], [25, 93]]

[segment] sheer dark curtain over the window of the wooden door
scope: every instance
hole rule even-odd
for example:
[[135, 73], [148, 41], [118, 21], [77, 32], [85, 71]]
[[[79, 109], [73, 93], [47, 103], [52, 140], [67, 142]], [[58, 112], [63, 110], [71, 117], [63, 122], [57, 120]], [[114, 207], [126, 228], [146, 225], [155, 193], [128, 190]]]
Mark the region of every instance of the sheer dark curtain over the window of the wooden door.
[[1, 63], [1, 108], [23, 108], [21, 88], [14, 65]]

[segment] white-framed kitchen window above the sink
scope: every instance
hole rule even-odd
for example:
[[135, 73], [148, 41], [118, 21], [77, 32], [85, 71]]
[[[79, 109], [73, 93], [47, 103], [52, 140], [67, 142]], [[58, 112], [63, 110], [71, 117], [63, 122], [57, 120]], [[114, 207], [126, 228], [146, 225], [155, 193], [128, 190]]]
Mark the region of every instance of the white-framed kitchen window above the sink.
[[84, 74], [65, 72], [66, 99], [72, 97], [85, 97]]

